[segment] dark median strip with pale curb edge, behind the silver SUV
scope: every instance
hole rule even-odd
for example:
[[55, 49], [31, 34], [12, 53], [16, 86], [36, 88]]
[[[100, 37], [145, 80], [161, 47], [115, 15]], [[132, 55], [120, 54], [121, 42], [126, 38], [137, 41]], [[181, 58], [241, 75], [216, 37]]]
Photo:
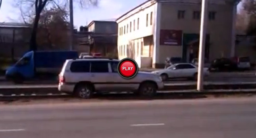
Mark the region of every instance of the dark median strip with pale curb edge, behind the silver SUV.
[[[256, 83], [244, 83], [244, 84], [208, 84], [204, 85], [204, 92], [211, 92], [211, 91], [254, 91], [256, 88]], [[196, 91], [196, 85], [174, 85], [168, 84], [161, 92], [168, 93], [202, 93]], [[0, 95], [47, 95], [51, 93], [51, 95], [60, 94], [61, 92], [58, 91], [57, 85], [35, 85], [35, 86], [20, 86], [20, 87], [2, 87], [0, 88]], [[63, 95], [63, 94], [62, 94]]]

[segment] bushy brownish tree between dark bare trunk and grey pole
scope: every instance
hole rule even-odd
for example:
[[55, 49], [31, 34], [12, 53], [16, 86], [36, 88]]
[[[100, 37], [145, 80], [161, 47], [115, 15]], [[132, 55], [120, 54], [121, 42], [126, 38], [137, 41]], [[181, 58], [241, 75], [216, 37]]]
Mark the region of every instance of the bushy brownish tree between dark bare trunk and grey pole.
[[60, 7], [44, 9], [38, 22], [37, 43], [44, 48], [63, 49], [68, 42], [67, 11]]

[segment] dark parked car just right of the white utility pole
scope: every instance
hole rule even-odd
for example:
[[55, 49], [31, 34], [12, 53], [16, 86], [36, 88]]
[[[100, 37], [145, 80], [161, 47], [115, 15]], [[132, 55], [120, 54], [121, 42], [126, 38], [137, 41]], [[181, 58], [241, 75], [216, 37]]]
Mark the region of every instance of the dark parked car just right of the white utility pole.
[[237, 70], [237, 63], [232, 59], [220, 58], [212, 61], [210, 70], [216, 71], [233, 71]]

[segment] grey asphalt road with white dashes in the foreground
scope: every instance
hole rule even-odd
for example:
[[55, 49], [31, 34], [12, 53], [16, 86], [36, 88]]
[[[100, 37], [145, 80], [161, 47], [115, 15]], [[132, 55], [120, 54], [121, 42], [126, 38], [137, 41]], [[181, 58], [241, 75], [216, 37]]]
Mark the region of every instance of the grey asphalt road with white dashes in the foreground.
[[255, 138], [256, 97], [0, 106], [1, 138]]

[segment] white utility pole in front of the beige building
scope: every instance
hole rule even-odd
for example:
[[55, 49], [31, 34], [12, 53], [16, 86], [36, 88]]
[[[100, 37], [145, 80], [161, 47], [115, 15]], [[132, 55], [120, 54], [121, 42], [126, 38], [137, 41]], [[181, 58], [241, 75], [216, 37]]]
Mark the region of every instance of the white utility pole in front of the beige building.
[[207, 13], [208, 13], [208, 0], [202, 0], [197, 91], [204, 90], [204, 54], [205, 54], [205, 41], [206, 41], [206, 29], [207, 29], [207, 17], [208, 17]]

